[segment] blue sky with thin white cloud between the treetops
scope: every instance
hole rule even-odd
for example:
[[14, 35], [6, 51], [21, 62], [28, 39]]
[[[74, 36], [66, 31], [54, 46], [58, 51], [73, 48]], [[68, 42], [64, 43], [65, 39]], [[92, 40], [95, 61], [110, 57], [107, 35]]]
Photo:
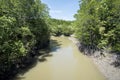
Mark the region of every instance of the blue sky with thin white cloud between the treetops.
[[74, 14], [79, 9], [79, 0], [41, 0], [47, 4], [52, 18], [63, 20], [75, 20]]

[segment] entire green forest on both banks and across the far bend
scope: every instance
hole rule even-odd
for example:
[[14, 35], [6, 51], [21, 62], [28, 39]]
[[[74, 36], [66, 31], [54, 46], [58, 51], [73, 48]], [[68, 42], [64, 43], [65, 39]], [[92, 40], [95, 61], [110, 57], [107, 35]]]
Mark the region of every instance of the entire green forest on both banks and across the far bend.
[[40, 0], [0, 0], [0, 80], [30, 63], [50, 36], [70, 36], [80, 51], [120, 52], [120, 0], [80, 0], [74, 21], [53, 19]]

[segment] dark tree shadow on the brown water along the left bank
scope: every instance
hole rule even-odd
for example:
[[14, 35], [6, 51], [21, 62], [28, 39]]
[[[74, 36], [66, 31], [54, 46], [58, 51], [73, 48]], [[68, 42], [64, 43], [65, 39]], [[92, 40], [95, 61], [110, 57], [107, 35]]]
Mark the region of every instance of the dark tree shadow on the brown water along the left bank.
[[25, 73], [27, 73], [32, 68], [36, 67], [36, 65], [39, 64], [40, 62], [47, 61], [47, 59], [46, 59], [47, 57], [52, 57], [53, 56], [50, 53], [59, 49], [60, 45], [61, 44], [59, 44], [57, 40], [51, 39], [49, 48], [39, 50], [39, 53], [35, 57], [33, 57], [33, 58], [31, 57], [30, 59], [28, 59], [28, 64], [25, 63], [25, 65], [23, 65], [23, 67], [19, 69], [18, 74], [10, 80], [25, 79], [25, 77], [23, 77], [23, 75]]

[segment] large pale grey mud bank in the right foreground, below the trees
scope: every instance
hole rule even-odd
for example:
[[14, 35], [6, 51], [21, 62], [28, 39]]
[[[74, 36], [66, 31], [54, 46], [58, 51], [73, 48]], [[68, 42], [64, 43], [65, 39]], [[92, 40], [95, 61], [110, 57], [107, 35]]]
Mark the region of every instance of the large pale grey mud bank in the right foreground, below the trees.
[[106, 55], [106, 57], [94, 55], [91, 56], [91, 59], [108, 80], [120, 80], [120, 68], [112, 65], [114, 62], [113, 54]]

